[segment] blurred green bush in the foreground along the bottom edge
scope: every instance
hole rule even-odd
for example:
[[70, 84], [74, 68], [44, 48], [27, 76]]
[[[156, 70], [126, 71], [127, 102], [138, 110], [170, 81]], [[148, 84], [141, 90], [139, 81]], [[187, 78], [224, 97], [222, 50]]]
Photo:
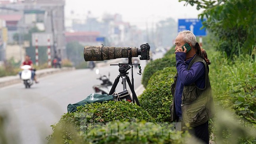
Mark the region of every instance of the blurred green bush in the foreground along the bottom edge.
[[77, 143], [96, 144], [184, 144], [188, 133], [176, 132], [169, 125], [154, 123], [108, 123], [106, 127], [98, 127]]

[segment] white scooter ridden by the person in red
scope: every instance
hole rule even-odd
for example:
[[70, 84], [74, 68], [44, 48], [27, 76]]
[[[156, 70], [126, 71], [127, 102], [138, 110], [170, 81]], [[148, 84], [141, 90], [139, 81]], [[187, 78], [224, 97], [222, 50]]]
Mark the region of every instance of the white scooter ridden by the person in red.
[[32, 80], [32, 72], [31, 72], [31, 65], [22, 65], [21, 69], [21, 80], [23, 80], [23, 83], [25, 84], [25, 88], [30, 88], [30, 86], [33, 84]]

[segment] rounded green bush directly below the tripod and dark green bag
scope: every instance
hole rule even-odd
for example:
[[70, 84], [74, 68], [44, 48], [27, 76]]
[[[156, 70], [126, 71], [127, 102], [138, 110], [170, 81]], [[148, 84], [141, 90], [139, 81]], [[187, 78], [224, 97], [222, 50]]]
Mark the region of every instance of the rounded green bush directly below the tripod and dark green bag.
[[62, 115], [56, 125], [51, 125], [53, 133], [46, 139], [48, 143], [72, 143], [94, 127], [102, 127], [110, 121], [155, 120], [141, 107], [129, 102], [92, 103], [77, 107], [74, 113]]

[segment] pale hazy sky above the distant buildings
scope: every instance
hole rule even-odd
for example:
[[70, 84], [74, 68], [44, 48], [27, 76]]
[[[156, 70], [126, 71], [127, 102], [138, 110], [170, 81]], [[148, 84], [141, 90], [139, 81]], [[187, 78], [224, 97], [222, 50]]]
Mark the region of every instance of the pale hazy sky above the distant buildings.
[[100, 19], [104, 13], [122, 15], [124, 22], [141, 29], [154, 27], [155, 23], [166, 18], [198, 18], [202, 10], [195, 6], [184, 6], [178, 0], [65, 0], [65, 17], [73, 11], [77, 17], [85, 18], [88, 11]]

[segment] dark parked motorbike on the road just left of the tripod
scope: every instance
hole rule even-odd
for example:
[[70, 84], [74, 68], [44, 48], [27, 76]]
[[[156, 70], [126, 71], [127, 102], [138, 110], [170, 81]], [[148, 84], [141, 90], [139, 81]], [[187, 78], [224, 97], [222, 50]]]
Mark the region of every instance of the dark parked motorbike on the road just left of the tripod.
[[[98, 69], [96, 69], [96, 74], [99, 74]], [[100, 75], [100, 77], [97, 79], [101, 80], [102, 83], [95, 84], [92, 86], [92, 88], [95, 90], [96, 93], [108, 94], [113, 85], [113, 83], [110, 81], [110, 74], [108, 74], [108, 77], [106, 75]]]

